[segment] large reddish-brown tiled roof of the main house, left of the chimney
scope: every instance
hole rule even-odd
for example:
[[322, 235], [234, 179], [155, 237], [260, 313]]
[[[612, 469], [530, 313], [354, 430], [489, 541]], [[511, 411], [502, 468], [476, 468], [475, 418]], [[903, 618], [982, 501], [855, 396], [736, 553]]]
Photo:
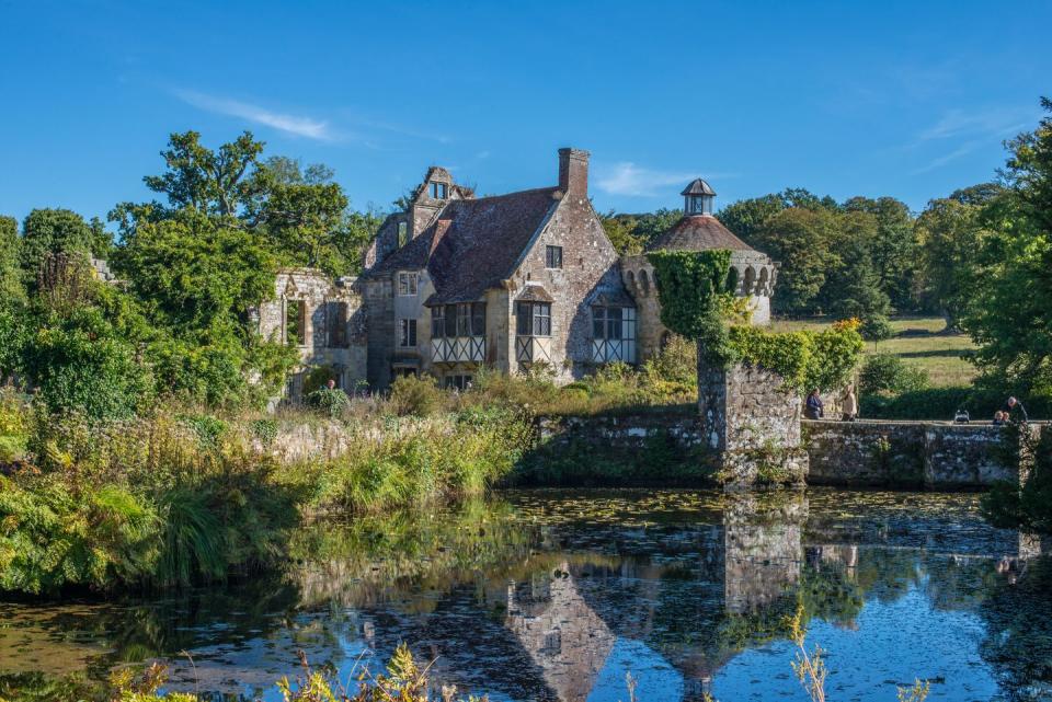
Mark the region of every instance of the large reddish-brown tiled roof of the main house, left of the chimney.
[[426, 304], [478, 300], [515, 272], [558, 204], [557, 189], [450, 200], [431, 226], [366, 275], [426, 268], [435, 284]]

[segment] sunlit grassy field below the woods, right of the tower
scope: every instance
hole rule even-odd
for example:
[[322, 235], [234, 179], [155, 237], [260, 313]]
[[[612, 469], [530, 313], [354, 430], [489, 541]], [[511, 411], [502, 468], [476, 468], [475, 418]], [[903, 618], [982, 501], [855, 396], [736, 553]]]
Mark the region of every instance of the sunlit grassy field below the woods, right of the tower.
[[[820, 330], [826, 319], [775, 321], [776, 331]], [[866, 353], [895, 354], [912, 366], [927, 371], [933, 388], [968, 385], [977, 375], [965, 358], [975, 348], [964, 334], [947, 334], [940, 317], [896, 317], [891, 320], [895, 335], [885, 342], [866, 343]]]

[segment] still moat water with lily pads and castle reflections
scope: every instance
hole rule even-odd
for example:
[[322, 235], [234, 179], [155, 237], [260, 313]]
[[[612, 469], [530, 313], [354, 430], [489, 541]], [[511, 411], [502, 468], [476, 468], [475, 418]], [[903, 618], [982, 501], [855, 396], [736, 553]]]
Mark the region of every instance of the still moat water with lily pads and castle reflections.
[[[0, 676], [162, 659], [172, 689], [275, 700], [298, 651], [346, 680], [399, 642], [491, 700], [807, 700], [785, 620], [832, 700], [1052, 700], [1052, 562], [974, 495], [811, 490], [506, 492], [319, 522], [287, 573], [148, 599], [0, 602]], [[1048, 544], [1045, 544], [1045, 548]]]

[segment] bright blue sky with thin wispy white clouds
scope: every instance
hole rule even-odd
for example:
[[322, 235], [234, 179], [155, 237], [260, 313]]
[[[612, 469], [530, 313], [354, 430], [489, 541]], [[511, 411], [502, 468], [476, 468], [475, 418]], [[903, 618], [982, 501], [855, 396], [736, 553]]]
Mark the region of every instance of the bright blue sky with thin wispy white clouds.
[[353, 204], [428, 164], [482, 194], [592, 152], [598, 209], [787, 186], [919, 209], [988, 180], [1052, 94], [1052, 2], [0, 0], [0, 212], [105, 216], [168, 134], [251, 129]]

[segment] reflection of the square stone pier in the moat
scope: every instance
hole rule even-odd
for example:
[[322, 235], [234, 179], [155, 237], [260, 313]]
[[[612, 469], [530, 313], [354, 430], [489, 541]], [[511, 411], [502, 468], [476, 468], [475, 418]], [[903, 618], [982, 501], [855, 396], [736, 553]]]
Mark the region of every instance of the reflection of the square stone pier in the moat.
[[802, 493], [728, 495], [723, 508], [727, 611], [742, 613], [777, 600], [800, 578]]

